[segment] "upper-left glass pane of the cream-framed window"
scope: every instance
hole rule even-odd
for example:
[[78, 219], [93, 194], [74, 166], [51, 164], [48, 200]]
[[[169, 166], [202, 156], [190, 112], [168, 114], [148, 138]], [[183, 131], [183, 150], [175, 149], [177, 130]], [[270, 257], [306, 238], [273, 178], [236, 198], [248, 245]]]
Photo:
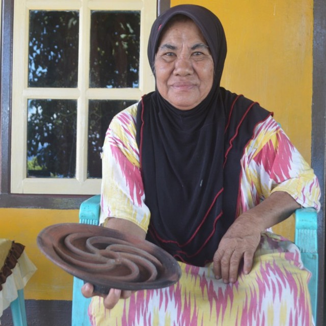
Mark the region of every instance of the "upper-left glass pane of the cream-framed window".
[[77, 87], [78, 11], [30, 11], [29, 87]]

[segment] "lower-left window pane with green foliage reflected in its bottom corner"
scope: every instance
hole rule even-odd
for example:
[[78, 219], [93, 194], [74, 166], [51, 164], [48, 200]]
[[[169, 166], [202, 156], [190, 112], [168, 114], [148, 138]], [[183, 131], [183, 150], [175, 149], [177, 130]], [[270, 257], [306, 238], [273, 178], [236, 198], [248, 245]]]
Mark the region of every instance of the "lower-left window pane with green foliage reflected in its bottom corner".
[[75, 100], [28, 101], [28, 177], [75, 176], [76, 119]]

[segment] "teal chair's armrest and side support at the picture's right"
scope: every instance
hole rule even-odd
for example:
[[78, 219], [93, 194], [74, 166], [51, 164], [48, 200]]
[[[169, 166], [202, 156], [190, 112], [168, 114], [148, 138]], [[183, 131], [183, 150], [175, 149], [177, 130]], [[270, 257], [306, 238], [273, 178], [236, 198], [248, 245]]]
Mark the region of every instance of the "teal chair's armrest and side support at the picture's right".
[[314, 320], [317, 317], [318, 292], [318, 247], [317, 247], [317, 211], [314, 208], [301, 208], [295, 211], [294, 243], [301, 251], [304, 266], [311, 272], [308, 284], [311, 309]]

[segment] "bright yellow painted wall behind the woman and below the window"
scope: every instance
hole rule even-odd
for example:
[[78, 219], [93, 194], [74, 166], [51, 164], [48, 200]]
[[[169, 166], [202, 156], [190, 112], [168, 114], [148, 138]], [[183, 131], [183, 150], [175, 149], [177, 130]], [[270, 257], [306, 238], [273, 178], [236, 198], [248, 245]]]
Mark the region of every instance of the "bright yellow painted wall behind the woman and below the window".
[[[172, 0], [200, 4], [218, 15], [228, 40], [222, 85], [259, 101], [310, 161], [313, 0]], [[38, 271], [26, 298], [70, 300], [72, 277], [36, 246], [46, 226], [77, 222], [77, 210], [0, 209], [0, 235], [26, 246]], [[293, 219], [274, 229], [293, 238]]]

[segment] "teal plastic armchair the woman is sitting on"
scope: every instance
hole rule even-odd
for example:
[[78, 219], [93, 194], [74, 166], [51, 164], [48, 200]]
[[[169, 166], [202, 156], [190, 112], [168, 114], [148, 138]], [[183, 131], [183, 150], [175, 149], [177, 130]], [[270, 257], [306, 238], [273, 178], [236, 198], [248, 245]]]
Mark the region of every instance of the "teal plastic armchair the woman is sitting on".
[[[79, 209], [79, 223], [98, 225], [100, 214], [100, 195], [85, 200]], [[311, 306], [314, 320], [317, 310], [317, 212], [313, 208], [301, 208], [295, 211], [294, 243], [301, 251], [302, 261], [312, 273], [309, 282]], [[72, 292], [72, 326], [90, 326], [88, 306], [91, 302], [80, 291], [84, 282], [77, 278], [73, 280]]]

